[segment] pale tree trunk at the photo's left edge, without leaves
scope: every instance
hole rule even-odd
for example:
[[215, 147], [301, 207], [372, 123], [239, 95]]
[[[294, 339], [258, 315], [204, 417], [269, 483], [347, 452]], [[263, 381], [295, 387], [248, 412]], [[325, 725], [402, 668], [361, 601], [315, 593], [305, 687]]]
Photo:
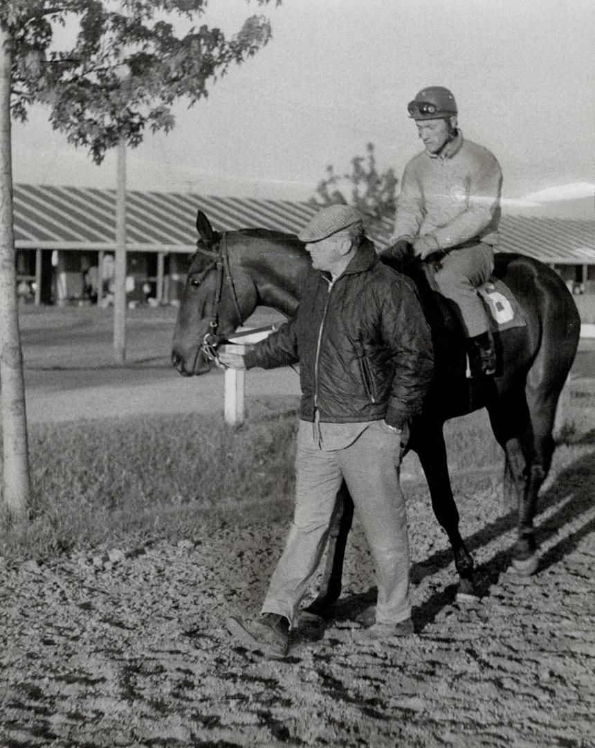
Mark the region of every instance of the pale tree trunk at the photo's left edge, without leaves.
[[13, 517], [25, 515], [31, 488], [25, 383], [13, 235], [13, 175], [10, 146], [12, 38], [0, 23], [0, 381], [4, 453], [4, 506]]

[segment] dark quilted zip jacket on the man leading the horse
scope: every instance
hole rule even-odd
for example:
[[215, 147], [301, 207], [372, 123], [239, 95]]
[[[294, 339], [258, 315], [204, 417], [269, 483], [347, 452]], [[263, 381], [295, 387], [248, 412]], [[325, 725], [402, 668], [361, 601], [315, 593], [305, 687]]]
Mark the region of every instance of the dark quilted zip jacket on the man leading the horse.
[[244, 357], [247, 368], [297, 361], [302, 420], [404, 426], [433, 372], [413, 281], [380, 263], [367, 239], [335, 281], [311, 269], [295, 316]]

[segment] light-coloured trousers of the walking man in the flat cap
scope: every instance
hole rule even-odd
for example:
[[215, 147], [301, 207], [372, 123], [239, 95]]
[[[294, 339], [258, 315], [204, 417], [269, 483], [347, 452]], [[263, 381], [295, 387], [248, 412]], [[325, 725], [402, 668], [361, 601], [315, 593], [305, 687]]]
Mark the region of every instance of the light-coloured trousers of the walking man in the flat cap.
[[407, 515], [397, 470], [400, 442], [382, 421], [374, 421], [348, 447], [324, 451], [312, 439], [312, 423], [300, 421], [295, 516], [262, 613], [295, 621], [324, 554], [336, 494], [345, 479], [374, 560], [376, 620], [398, 623], [410, 617]]

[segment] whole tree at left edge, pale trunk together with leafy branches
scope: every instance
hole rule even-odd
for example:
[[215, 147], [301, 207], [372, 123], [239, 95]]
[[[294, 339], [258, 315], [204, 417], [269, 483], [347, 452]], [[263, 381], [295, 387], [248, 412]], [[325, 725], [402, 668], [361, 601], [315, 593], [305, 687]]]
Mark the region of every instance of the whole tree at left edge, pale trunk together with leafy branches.
[[[271, 1], [255, 0], [258, 6]], [[96, 163], [108, 148], [124, 143], [135, 147], [147, 129], [169, 131], [176, 99], [185, 97], [193, 105], [205, 98], [209, 86], [232, 64], [246, 61], [271, 38], [270, 22], [256, 14], [231, 38], [219, 28], [193, 25], [207, 4], [0, 0], [0, 375], [3, 499], [11, 514], [25, 512], [30, 489], [16, 305], [10, 112], [25, 120], [30, 105], [47, 105], [54, 128], [70, 143], [87, 147]], [[75, 36], [56, 49], [55, 32], [61, 26], [69, 32], [74, 28]], [[185, 33], [179, 28], [186, 28]]]

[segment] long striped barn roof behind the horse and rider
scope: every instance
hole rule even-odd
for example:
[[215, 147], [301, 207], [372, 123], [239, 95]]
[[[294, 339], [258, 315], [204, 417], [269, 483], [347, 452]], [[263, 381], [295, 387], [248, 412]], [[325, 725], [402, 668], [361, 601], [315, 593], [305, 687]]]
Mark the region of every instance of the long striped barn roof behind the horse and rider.
[[[193, 251], [197, 209], [206, 213], [218, 231], [260, 227], [297, 233], [318, 208], [289, 200], [128, 191], [128, 242], [147, 251]], [[14, 188], [17, 248], [113, 247], [115, 215], [115, 190], [42, 185]], [[391, 229], [392, 221], [382, 221], [372, 239], [386, 246]], [[595, 263], [595, 221], [505, 216], [500, 233], [505, 252], [521, 252], [546, 263]]]

